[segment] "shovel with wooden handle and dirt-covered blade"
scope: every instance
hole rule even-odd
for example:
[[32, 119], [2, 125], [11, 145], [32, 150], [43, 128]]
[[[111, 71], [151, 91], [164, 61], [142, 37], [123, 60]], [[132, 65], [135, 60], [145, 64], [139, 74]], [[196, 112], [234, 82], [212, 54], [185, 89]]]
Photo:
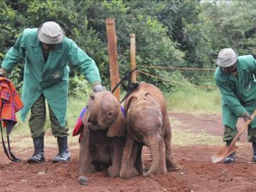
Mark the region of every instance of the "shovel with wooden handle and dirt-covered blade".
[[230, 146], [227, 146], [227, 145], [224, 146], [216, 154], [213, 154], [213, 156], [210, 157], [210, 159], [212, 160], [213, 163], [217, 163], [217, 162], [225, 159], [226, 157], [228, 157], [230, 154], [233, 154], [233, 152], [235, 152], [235, 149], [238, 148], [235, 146], [235, 142], [237, 142], [238, 139], [241, 137], [242, 133], [245, 132], [245, 129], [247, 129], [247, 126], [252, 122], [255, 115], [256, 115], [256, 110], [252, 113], [252, 115], [250, 116], [250, 119], [248, 119], [247, 122], [245, 122], [245, 124], [243, 124], [242, 129], [235, 136], [235, 138], [231, 142]]

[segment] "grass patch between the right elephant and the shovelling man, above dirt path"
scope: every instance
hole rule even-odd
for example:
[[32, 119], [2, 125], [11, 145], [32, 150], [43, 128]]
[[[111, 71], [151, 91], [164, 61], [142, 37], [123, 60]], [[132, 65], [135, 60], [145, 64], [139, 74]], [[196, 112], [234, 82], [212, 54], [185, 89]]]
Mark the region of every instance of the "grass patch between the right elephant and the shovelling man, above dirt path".
[[193, 114], [220, 114], [220, 92], [188, 87], [165, 94], [166, 105], [171, 112]]

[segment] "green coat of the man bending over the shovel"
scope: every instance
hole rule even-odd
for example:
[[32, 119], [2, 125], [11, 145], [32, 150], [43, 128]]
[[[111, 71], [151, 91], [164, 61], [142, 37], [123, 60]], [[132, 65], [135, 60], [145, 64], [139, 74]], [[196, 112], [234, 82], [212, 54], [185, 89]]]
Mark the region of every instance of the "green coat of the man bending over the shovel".
[[[238, 57], [238, 78], [223, 75], [218, 67], [214, 79], [222, 95], [223, 124], [235, 129], [238, 117], [256, 109], [256, 60], [252, 55]], [[253, 120], [251, 127], [256, 127]]]

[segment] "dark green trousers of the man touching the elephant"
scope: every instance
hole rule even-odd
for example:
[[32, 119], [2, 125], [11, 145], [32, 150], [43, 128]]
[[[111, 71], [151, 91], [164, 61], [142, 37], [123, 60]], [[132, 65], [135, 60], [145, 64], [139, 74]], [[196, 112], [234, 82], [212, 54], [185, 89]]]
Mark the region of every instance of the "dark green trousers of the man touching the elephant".
[[[68, 123], [65, 126], [60, 127], [58, 119], [55, 117], [53, 110], [49, 108], [50, 126], [54, 137], [66, 137], [68, 136]], [[46, 98], [42, 94], [38, 97], [38, 100], [31, 107], [31, 117], [28, 120], [28, 125], [31, 129], [31, 137], [42, 137], [45, 134], [46, 124]]]

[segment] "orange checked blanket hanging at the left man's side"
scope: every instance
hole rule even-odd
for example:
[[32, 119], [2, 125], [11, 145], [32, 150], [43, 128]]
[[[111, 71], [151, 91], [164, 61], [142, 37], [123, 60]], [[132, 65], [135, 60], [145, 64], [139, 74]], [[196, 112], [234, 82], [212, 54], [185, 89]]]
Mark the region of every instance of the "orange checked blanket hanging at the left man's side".
[[21, 110], [23, 103], [13, 83], [7, 78], [0, 77], [0, 95], [0, 120], [9, 135], [17, 122], [16, 112]]

